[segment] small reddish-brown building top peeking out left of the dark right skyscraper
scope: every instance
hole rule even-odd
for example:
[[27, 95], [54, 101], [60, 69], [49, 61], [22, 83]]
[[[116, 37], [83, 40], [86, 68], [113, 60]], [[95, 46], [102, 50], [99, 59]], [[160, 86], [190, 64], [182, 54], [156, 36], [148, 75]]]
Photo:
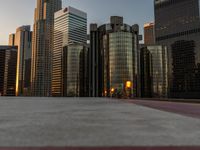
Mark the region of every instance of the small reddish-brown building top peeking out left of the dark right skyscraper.
[[144, 25], [144, 44], [155, 44], [154, 23], [146, 23]]

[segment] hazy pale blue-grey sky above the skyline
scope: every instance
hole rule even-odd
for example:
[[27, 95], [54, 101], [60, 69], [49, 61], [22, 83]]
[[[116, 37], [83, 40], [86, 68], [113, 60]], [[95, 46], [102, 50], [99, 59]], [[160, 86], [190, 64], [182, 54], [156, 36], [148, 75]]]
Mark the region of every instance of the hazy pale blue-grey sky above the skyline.
[[[153, 21], [153, 0], [63, 0], [63, 6], [72, 6], [88, 14], [88, 24], [109, 22], [111, 15], [124, 17], [125, 23]], [[2, 0], [0, 5], [0, 45], [8, 43], [9, 33], [21, 25], [33, 24], [36, 0]]]

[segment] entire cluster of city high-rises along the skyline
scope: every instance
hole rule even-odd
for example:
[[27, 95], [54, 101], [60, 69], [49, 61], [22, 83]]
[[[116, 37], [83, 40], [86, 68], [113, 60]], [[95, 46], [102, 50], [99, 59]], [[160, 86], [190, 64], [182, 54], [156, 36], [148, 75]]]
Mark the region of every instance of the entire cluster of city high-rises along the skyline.
[[[154, 0], [155, 21], [87, 13], [38, 0], [30, 25], [0, 46], [0, 96], [200, 98], [200, 0]], [[88, 35], [89, 33], [89, 35]]]

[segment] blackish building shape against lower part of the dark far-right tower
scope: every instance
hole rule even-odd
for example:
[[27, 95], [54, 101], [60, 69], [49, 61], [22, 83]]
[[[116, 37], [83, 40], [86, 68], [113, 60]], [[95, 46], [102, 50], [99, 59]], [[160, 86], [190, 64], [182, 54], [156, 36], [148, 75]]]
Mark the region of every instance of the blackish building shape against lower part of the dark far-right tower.
[[[172, 44], [173, 93], [189, 93], [195, 87], [195, 42], [176, 41]], [[176, 95], [174, 95], [176, 97]]]

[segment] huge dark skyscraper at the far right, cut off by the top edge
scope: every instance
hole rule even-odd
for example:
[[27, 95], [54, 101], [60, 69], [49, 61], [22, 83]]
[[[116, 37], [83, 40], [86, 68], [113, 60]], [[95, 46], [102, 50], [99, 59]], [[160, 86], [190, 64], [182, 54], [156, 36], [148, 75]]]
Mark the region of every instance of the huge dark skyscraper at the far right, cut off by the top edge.
[[200, 0], [155, 0], [156, 43], [168, 46], [170, 97], [200, 98]]

